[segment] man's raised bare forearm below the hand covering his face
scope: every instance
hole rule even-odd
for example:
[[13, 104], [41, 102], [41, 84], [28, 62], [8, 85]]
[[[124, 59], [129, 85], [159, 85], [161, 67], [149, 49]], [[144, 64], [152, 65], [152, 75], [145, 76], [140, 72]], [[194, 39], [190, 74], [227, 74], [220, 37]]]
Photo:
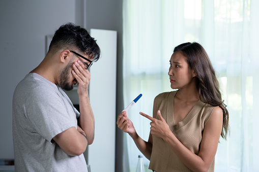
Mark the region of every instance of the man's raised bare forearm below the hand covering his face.
[[79, 124], [87, 137], [88, 145], [91, 145], [94, 141], [95, 119], [88, 94], [79, 96], [79, 109]]

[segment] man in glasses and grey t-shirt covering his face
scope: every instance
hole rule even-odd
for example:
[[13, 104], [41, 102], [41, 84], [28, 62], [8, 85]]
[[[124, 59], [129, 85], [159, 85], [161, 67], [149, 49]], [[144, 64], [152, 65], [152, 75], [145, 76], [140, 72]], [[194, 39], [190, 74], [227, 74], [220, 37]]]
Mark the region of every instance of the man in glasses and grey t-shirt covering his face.
[[[56, 30], [43, 61], [17, 85], [13, 96], [16, 171], [87, 171], [83, 152], [94, 141], [89, 67], [100, 48], [73, 23]], [[78, 111], [62, 90], [77, 84]]]

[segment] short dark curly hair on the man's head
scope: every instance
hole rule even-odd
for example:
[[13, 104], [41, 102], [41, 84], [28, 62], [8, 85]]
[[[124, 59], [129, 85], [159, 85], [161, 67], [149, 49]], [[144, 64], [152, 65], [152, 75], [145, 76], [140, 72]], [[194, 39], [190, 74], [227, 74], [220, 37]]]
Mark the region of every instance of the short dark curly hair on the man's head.
[[83, 52], [92, 58], [93, 61], [97, 61], [101, 53], [96, 40], [89, 35], [88, 31], [73, 23], [60, 26], [55, 31], [49, 45], [49, 52], [51, 53], [65, 49]]

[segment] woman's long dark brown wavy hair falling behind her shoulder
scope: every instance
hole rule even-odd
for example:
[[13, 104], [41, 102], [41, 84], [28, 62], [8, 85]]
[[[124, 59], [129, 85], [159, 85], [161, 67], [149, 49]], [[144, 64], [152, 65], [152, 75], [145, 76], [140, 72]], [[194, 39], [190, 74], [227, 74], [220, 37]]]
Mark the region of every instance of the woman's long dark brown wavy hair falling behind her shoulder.
[[196, 87], [199, 91], [199, 98], [211, 106], [219, 106], [223, 111], [223, 126], [221, 136], [226, 140], [228, 131], [228, 111], [221, 98], [219, 83], [215, 75], [208, 54], [202, 45], [198, 43], [184, 43], [174, 49], [175, 52], [182, 52], [190, 68], [196, 74]]

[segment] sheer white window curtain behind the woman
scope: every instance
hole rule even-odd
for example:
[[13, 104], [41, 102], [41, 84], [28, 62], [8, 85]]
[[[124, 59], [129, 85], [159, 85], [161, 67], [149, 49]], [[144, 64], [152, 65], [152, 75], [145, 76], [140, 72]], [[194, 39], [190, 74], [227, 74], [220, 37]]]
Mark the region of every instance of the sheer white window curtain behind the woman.
[[[259, 171], [258, 7], [258, 0], [123, 0], [124, 105], [143, 94], [128, 111], [142, 139], [148, 141], [150, 121], [139, 112], [152, 116], [155, 96], [172, 91], [167, 75], [172, 50], [198, 42], [212, 61], [229, 111], [231, 135], [220, 139], [215, 171]], [[141, 153], [124, 136], [124, 163], [135, 171]]]

